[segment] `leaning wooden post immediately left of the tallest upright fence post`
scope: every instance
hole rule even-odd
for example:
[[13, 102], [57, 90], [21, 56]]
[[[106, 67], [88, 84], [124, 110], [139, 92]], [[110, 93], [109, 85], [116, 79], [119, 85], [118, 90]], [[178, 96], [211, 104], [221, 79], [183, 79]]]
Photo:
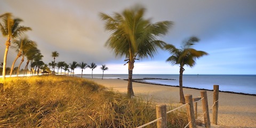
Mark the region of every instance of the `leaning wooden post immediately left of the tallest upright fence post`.
[[209, 108], [208, 108], [208, 100], [207, 100], [207, 92], [201, 91], [202, 105], [203, 105], [203, 112], [204, 112], [204, 124], [205, 127], [211, 127], [210, 122], [210, 115], [209, 115]]

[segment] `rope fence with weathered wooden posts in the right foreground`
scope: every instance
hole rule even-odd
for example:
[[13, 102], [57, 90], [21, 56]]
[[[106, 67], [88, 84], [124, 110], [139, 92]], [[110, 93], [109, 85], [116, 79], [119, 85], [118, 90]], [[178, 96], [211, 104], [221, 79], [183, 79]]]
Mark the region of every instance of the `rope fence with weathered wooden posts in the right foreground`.
[[[213, 94], [213, 105], [210, 109], [213, 110], [213, 124], [217, 125], [218, 121], [218, 106], [219, 106], [219, 85], [213, 85], [213, 92], [209, 94], [208, 96]], [[178, 110], [182, 107], [187, 107], [187, 115], [188, 115], [188, 124], [185, 126], [189, 126], [190, 128], [196, 127], [196, 119], [195, 115], [197, 115], [197, 102], [202, 101], [203, 106], [203, 117], [204, 117], [204, 124], [205, 127], [211, 127], [210, 123], [210, 116], [209, 116], [209, 107], [208, 107], [208, 101], [207, 101], [207, 92], [201, 91], [201, 97], [199, 98], [192, 98], [192, 95], [185, 95], [186, 104], [179, 106], [177, 108], [174, 108], [170, 111], [166, 112], [166, 105], [156, 105], [156, 116], [157, 119], [154, 121], [151, 121], [149, 123], [143, 124], [141, 126], [138, 126], [137, 128], [142, 128], [145, 126], [148, 126], [152, 123], [157, 122], [157, 128], [166, 128], [167, 127], [167, 119], [166, 114], [171, 113], [172, 111]], [[195, 113], [194, 113], [194, 106], [193, 103], [195, 103]], [[201, 117], [202, 118], [202, 117]]]

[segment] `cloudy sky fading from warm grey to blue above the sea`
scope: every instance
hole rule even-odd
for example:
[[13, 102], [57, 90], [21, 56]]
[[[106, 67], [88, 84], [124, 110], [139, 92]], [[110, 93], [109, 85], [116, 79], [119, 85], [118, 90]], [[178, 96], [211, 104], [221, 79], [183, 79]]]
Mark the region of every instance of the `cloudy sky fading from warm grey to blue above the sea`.
[[[256, 1], [254, 0], [0, 0], [0, 14], [11, 12], [21, 18], [22, 26], [32, 30], [25, 34], [37, 43], [43, 61], [95, 62], [93, 74], [128, 74], [125, 58], [116, 58], [105, 46], [109, 31], [99, 13], [113, 15], [140, 4], [146, 8], [145, 18], [152, 23], [172, 21], [162, 41], [180, 48], [182, 42], [196, 36], [194, 49], [205, 51], [193, 68], [184, 67], [183, 74], [256, 74]], [[6, 37], [0, 35], [0, 61], [3, 62]], [[2, 43], [1, 43], [2, 42]], [[179, 74], [179, 66], [166, 62], [172, 54], [159, 49], [154, 58], [135, 61], [133, 74]], [[11, 67], [17, 52], [10, 49], [7, 66]], [[20, 59], [16, 62], [18, 66]], [[25, 67], [25, 62], [22, 65]], [[21, 68], [23, 68], [21, 66]], [[75, 73], [81, 74], [76, 68]], [[91, 74], [86, 68], [84, 74]]]

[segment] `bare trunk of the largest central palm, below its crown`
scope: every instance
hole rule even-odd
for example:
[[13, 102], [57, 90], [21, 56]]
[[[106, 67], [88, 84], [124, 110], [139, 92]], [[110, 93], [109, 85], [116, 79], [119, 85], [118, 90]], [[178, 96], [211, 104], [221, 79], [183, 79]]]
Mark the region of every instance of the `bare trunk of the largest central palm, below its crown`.
[[129, 66], [128, 66], [129, 77], [128, 77], [128, 86], [127, 86], [127, 96], [129, 98], [134, 96], [133, 89], [132, 89], [132, 70], [133, 70], [133, 67], [134, 67], [134, 61], [129, 61]]

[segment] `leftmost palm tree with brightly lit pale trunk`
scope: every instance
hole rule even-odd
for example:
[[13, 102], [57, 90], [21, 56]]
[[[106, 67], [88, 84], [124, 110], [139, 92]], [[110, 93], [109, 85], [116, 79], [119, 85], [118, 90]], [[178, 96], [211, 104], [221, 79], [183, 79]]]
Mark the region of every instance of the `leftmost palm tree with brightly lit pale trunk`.
[[5, 52], [4, 52], [4, 65], [3, 65], [3, 80], [5, 80], [5, 71], [6, 71], [6, 60], [7, 60], [7, 53], [9, 50], [9, 46], [11, 45], [11, 39], [20, 36], [25, 31], [31, 30], [29, 27], [20, 26], [19, 23], [22, 21], [19, 18], [12, 18], [11, 13], [5, 13], [0, 15], [0, 29], [2, 31], [3, 36], [7, 36], [7, 40], [5, 42]]

